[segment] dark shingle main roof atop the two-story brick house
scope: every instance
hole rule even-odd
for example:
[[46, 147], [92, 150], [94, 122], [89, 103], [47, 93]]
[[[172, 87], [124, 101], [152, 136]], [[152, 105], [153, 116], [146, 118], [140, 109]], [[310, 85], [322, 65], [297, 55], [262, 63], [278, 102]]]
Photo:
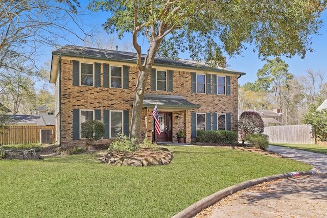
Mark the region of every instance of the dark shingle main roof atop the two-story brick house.
[[[61, 55], [61, 56], [71, 56], [71, 57], [82, 57], [82, 58], [92, 58], [92, 59], [104, 59], [111, 61], [120, 61], [120, 62], [136, 62], [136, 53], [130, 52], [120, 52], [120, 51], [112, 51], [112, 50], [104, 50], [104, 49], [94, 49], [90, 47], [81, 47], [75, 45], [65, 45], [54, 52], [53, 55]], [[143, 60], [146, 55], [142, 55]], [[201, 64], [199, 67], [198, 64]], [[171, 58], [164, 58], [156, 56], [154, 59], [154, 66], [156, 65], [170, 65], [175, 67], [183, 67], [183, 68], [194, 68], [194, 69], [205, 69], [203, 62], [197, 62], [193, 60], [187, 59], [178, 59], [174, 60]], [[217, 67], [216, 69], [211, 69], [212, 71], [224, 71], [229, 72], [231, 74], [245, 75], [244, 72], [240, 72], [237, 70]]]

